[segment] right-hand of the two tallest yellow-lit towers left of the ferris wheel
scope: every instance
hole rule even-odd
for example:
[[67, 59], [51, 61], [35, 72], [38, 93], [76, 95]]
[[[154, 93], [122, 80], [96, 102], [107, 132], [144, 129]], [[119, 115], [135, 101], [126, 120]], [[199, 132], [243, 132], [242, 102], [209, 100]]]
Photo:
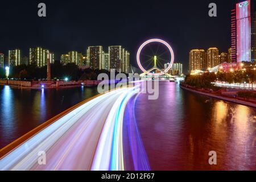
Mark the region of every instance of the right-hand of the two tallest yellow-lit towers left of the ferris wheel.
[[122, 72], [122, 46], [109, 46], [109, 67], [116, 72]]

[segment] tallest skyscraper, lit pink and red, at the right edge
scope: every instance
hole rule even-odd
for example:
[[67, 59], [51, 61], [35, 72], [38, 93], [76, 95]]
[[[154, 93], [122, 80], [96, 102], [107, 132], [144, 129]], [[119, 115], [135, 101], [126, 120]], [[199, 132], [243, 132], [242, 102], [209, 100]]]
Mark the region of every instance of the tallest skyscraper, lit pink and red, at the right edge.
[[247, 0], [237, 3], [232, 10], [232, 61], [256, 60], [255, 5], [255, 1]]

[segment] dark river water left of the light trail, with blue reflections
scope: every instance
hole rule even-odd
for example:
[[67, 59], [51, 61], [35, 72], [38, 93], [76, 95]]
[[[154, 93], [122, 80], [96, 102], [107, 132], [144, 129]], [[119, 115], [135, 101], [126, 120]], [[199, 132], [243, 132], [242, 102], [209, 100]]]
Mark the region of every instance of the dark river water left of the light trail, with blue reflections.
[[97, 93], [97, 88], [85, 87], [35, 90], [0, 85], [0, 148]]

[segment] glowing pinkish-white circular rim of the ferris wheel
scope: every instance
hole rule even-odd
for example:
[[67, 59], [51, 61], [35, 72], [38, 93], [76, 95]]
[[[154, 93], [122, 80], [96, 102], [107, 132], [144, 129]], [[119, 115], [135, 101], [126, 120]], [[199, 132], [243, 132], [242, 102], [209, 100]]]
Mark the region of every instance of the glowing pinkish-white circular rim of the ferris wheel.
[[[144, 69], [141, 65], [141, 60], [139, 59], [139, 57], [141, 56], [141, 51], [142, 49], [149, 43], [152, 43], [152, 42], [159, 42], [159, 43], [162, 43], [164, 44], [170, 51], [171, 53], [171, 61], [170, 61], [170, 65], [164, 70], [164, 72], [168, 72], [171, 68], [172, 68], [172, 64], [174, 64], [174, 51], [172, 50], [172, 47], [167, 43], [165, 42], [164, 40], [161, 40], [161, 39], [150, 39], [150, 40], [147, 40], [146, 42], [144, 42], [141, 47], [139, 47], [138, 49], [138, 52], [137, 52], [137, 63], [139, 65], [139, 68], [141, 68], [141, 70], [143, 72], [147, 72], [146, 69]], [[150, 76], [161, 76], [161, 75], [164, 75], [164, 73], [150, 73], [148, 72], [147, 73], [148, 75]]]

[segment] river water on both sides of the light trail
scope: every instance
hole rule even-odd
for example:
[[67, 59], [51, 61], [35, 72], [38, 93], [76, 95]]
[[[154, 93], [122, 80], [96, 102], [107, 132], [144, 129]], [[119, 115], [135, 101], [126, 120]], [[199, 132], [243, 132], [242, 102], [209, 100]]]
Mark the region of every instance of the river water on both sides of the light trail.
[[[137, 167], [256, 169], [256, 109], [194, 94], [174, 82], [160, 81], [159, 92], [158, 100], [139, 94], [127, 105], [123, 127], [126, 169], [134, 169], [131, 144], [139, 149]], [[95, 94], [97, 88], [0, 86], [0, 147]], [[129, 125], [130, 110], [135, 121]], [[136, 125], [138, 130], [130, 130]], [[217, 152], [217, 166], [209, 165], [209, 151]]]

